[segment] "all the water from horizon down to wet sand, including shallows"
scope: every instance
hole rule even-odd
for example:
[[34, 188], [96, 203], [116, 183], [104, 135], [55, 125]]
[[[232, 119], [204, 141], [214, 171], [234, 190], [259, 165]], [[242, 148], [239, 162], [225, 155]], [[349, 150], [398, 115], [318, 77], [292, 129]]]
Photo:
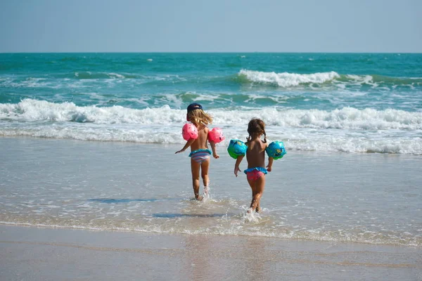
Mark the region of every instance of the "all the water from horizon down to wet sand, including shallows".
[[[193, 102], [226, 136], [206, 202], [174, 155]], [[287, 155], [249, 216], [252, 117]], [[0, 155], [1, 224], [421, 249], [422, 54], [1, 53]]]

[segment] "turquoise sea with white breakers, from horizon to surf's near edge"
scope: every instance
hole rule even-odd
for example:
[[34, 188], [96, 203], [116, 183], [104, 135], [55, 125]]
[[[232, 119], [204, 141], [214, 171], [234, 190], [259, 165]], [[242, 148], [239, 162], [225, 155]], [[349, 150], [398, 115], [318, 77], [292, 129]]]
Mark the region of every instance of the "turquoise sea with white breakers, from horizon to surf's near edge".
[[288, 150], [422, 154], [422, 54], [1, 53], [0, 136], [182, 143], [202, 103]]

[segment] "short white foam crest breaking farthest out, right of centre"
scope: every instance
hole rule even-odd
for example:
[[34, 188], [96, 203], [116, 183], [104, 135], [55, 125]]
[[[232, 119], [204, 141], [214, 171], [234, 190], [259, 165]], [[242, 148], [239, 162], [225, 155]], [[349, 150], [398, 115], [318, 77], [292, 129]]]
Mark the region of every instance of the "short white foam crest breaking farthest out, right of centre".
[[300, 84], [323, 84], [340, 78], [337, 72], [319, 72], [312, 74], [298, 73], [276, 73], [276, 72], [260, 72], [253, 70], [241, 70], [238, 75], [246, 77], [249, 81], [262, 84], [274, 84], [280, 87], [298, 86]]

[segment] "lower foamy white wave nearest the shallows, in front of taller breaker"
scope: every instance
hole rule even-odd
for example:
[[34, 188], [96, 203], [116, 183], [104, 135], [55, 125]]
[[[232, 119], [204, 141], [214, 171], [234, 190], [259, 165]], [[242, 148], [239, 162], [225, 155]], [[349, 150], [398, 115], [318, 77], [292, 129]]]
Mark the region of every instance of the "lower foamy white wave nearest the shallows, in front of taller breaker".
[[[226, 140], [217, 145], [220, 152], [225, 150], [231, 138], [246, 139], [245, 129], [222, 128]], [[343, 132], [347, 135], [347, 132]], [[28, 127], [6, 127], [0, 129], [4, 137], [33, 137], [72, 139], [78, 141], [107, 141], [129, 143], [177, 144], [186, 143], [181, 137], [180, 126], [51, 126], [37, 124]], [[271, 140], [284, 141], [287, 151], [345, 152], [345, 153], [382, 153], [402, 155], [422, 155], [422, 138], [415, 136], [392, 137], [388, 133], [376, 136], [357, 134], [338, 136], [335, 133], [316, 131], [284, 130], [281, 127], [267, 131]], [[221, 152], [224, 153], [224, 152]]]

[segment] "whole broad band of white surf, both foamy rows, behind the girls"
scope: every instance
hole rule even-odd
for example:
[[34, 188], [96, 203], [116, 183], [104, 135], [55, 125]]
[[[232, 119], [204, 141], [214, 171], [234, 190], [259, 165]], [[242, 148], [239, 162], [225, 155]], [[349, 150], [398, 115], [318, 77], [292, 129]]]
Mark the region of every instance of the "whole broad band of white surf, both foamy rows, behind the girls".
[[[422, 112], [352, 107], [209, 112], [225, 132], [223, 145], [230, 138], [245, 138], [248, 121], [258, 117], [266, 122], [269, 138], [285, 141], [288, 150], [422, 155]], [[184, 143], [180, 131], [185, 118], [185, 110], [168, 105], [135, 110], [26, 99], [0, 104], [0, 136], [179, 144]]]

